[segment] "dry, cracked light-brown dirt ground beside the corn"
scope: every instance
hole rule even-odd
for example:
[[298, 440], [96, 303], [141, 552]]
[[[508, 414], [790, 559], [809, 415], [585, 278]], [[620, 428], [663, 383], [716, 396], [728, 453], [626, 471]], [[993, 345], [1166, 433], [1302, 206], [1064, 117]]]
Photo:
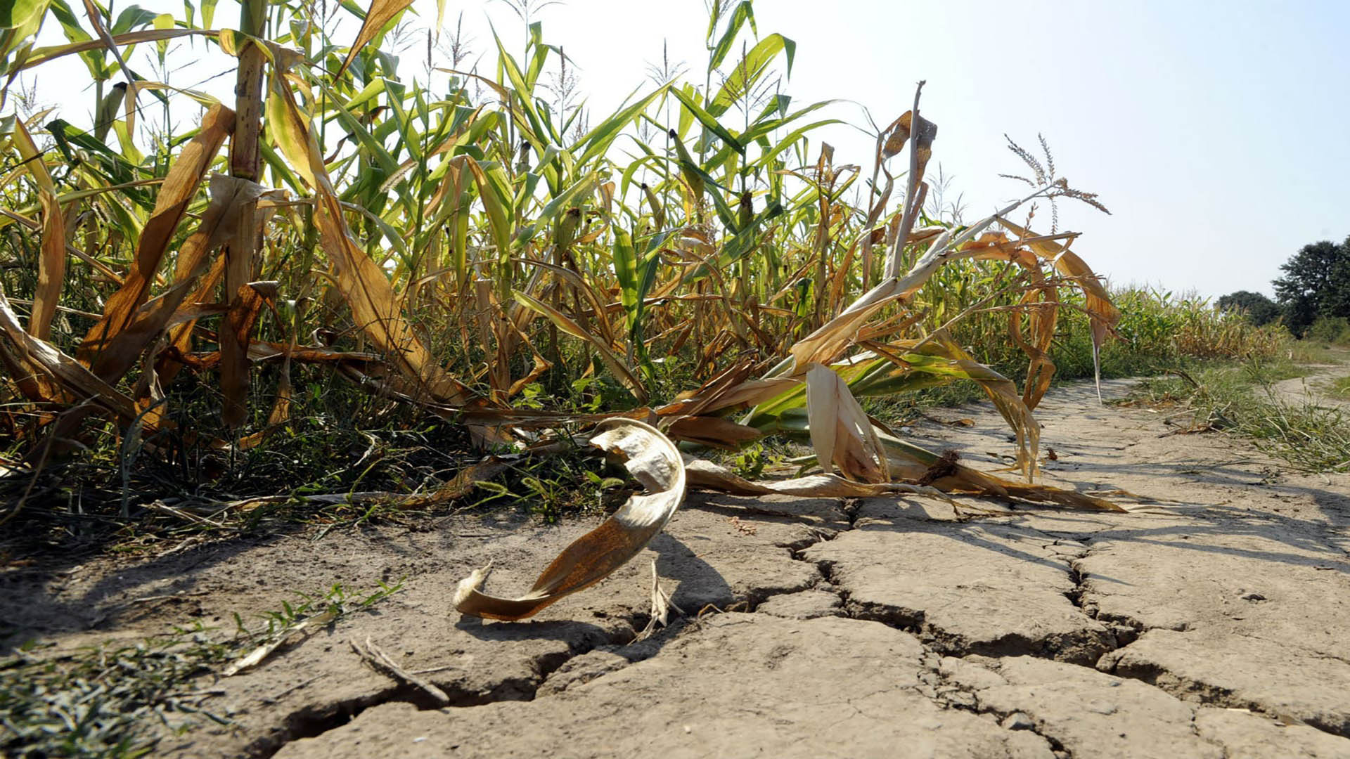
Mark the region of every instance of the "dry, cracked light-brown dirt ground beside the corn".
[[[932, 416], [919, 442], [1010, 461], [991, 411]], [[204, 681], [231, 724], [166, 732], [166, 756], [1350, 758], [1350, 477], [1177, 435], [1089, 385], [1037, 417], [1046, 481], [1166, 511], [691, 493], [637, 560], [525, 623], [460, 619], [455, 583], [493, 559], [487, 590], [520, 592], [590, 523], [448, 517], [30, 567], [4, 577], [0, 614], [77, 646], [406, 577]], [[688, 616], [634, 643], [653, 562]], [[451, 706], [364, 666], [348, 642], [366, 639]]]

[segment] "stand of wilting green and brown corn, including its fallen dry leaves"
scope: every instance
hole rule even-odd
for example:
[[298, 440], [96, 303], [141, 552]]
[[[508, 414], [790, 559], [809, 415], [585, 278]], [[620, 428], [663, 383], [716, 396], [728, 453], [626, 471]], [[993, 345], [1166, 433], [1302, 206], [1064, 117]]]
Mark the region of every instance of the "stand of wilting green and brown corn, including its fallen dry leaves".
[[[919, 92], [879, 130], [871, 180], [860, 182], [857, 166], [809, 140], [830, 123], [811, 120], [825, 104], [794, 107], [771, 86], [795, 46], [757, 36], [748, 0], [713, 4], [703, 86], [662, 81], [603, 117], [545, 97], [541, 76], [564, 58], [537, 23], [521, 55], [494, 38], [491, 76], [458, 70], [456, 59], [443, 69], [446, 92], [405, 84], [379, 46], [408, 5], [335, 7], [360, 19], [350, 42], [331, 36], [331, 14], [265, 0], [242, 3], [238, 30], [208, 28], [213, 5], [200, 19], [190, 4], [182, 19], [135, 8], [113, 19], [96, 0], [84, 18], [66, 0], [11, 11], [0, 35], [7, 85], [78, 55], [97, 100], [88, 131], [42, 123], [45, 113], [0, 126], [3, 282], [31, 293], [0, 292], [0, 361], [22, 398], [7, 417], [31, 467], [107, 421], [150, 455], [262, 446], [290, 420], [300, 363], [463, 424], [479, 446], [545, 455], [564, 429], [599, 423], [583, 436], [626, 456], [652, 494], [578, 540], [522, 598], [479, 593], [483, 573], [463, 583], [466, 613], [502, 619], [628, 560], [686, 483], [968, 492], [1120, 511], [1030, 483], [1031, 409], [1054, 373], [1061, 288], [1081, 292], [1073, 307], [1095, 347], [1119, 317], [1069, 250], [1073, 234], [1010, 219], [1038, 199], [1095, 203], [1053, 163], [1019, 153], [1035, 174], [1022, 200], [972, 226], [936, 223], [922, 208], [937, 126], [919, 115]], [[69, 43], [35, 47], [50, 23]], [[234, 103], [128, 68], [135, 45], [155, 43], [163, 63], [165, 45], [181, 38], [238, 58]], [[107, 86], [119, 76], [127, 81]], [[167, 109], [181, 97], [205, 108], [176, 134]], [[165, 108], [163, 131], [140, 151], [136, 117], [151, 99]], [[620, 138], [637, 151], [626, 162]], [[891, 162], [902, 154], [898, 181]], [[972, 313], [1006, 317], [1030, 362], [1021, 392], [950, 339]], [[278, 382], [255, 409], [262, 363], [279, 365]], [[166, 389], [185, 370], [216, 378], [223, 434], [176, 423]], [[535, 408], [541, 386], [595, 378], [626, 397], [593, 413]], [[671, 378], [701, 385], [656, 404]], [[961, 380], [1015, 431], [1026, 483], [898, 439], [856, 400]], [[526, 389], [531, 404], [517, 402]], [[774, 434], [810, 440], [822, 474], [749, 482], [674, 447], [737, 448]], [[495, 471], [485, 459], [405, 502], [454, 497]]]

